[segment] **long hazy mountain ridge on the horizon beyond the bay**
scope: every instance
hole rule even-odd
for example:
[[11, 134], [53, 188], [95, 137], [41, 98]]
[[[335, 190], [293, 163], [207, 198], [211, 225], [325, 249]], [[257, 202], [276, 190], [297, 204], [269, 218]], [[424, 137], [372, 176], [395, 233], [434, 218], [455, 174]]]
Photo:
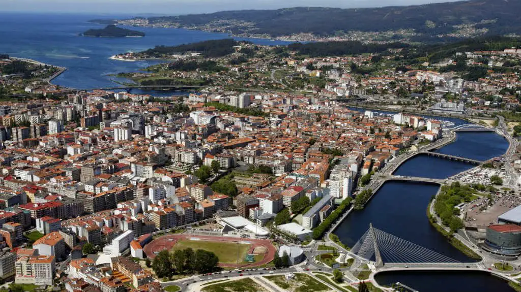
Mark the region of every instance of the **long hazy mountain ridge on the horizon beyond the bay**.
[[521, 34], [521, 1], [470, 0], [382, 8], [295, 7], [277, 10], [235, 10], [212, 14], [134, 18], [132, 25], [171, 26], [236, 35], [270, 37], [311, 34], [349, 36], [358, 32], [391, 32], [407, 38], [465, 38]]

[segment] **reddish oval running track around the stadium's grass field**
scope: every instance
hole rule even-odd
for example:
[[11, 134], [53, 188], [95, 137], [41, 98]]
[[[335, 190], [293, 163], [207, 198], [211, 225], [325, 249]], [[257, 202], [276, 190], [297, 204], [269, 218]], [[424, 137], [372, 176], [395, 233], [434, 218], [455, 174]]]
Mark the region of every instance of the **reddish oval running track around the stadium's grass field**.
[[206, 235], [191, 235], [191, 234], [171, 234], [171, 235], [165, 235], [159, 238], [156, 238], [152, 242], [145, 245], [143, 248], [143, 251], [145, 252], [146, 256], [150, 259], [155, 258], [155, 253], [158, 253], [162, 250], [170, 250], [179, 240], [189, 240], [189, 238], [199, 238], [200, 240], [207, 240], [207, 241], [226, 241], [226, 242], [249, 242], [252, 244], [252, 247], [250, 249], [250, 253], [253, 253], [253, 249], [258, 246], [264, 246], [266, 247], [267, 253], [264, 255], [264, 258], [260, 261], [254, 262], [254, 263], [248, 263], [248, 264], [232, 264], [232, 263], [220, 263], [220, 267], [227, 267], [227, 268], [250, 268], [250, 267], [257, 267], [262, 266], [263, 264], [266, 264], [270, 261], [272, 261], [275, 257], [275, 253], [277, 252], [277, 249], [271, 244], [270, 240], [258, 240], [258, 239], [252, 239], [252, 238], [240, 238], [240, 237], [228, 237], [228, 236], [206, 236]]

